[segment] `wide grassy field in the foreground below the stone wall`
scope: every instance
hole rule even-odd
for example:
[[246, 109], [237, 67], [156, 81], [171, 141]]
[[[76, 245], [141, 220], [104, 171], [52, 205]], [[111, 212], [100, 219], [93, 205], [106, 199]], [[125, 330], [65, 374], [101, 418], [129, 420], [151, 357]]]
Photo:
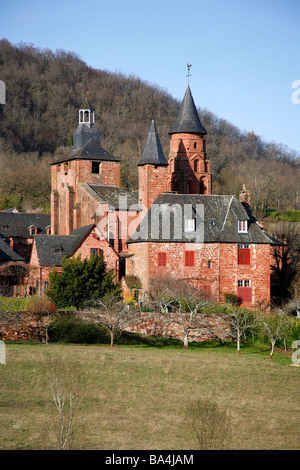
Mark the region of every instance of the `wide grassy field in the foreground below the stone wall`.
[[195, 398], [230, 416], [228, 449], [299, 449], [300, 368], [268, 347], [6, 344], [0, 365], [0, 448], [57, 449], [50, 385], [58, 361], [83, 392], [72, 449], [194, 450], [186, 417]]

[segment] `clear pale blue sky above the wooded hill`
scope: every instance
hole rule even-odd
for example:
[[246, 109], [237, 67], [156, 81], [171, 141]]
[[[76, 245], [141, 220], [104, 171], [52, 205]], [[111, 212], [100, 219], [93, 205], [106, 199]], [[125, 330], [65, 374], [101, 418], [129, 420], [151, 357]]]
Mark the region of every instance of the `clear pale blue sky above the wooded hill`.
[[0, 0], [0, 15], [13, 44], [76, 52], [178, 100], [190, 62], [197, 106], [300, 154], [299, 0]]

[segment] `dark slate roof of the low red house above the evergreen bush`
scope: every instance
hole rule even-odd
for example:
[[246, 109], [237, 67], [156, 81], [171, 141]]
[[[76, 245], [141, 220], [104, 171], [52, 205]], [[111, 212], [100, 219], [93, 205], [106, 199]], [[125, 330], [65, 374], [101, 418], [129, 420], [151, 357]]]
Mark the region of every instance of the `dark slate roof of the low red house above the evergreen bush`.
[[71, 256], [95, 225], [73, 230], [71, 235], [36, 235], [35, 244], [40, 266], [61, 266], [65, 256]]

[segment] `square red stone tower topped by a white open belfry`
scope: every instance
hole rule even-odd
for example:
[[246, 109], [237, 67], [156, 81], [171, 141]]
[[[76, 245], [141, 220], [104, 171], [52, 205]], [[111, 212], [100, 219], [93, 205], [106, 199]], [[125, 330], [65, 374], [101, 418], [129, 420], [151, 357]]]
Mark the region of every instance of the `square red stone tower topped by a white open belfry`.
[[120, 188], [120, 159], [100, 144], [95, 111], [88, 95], [79, 109], [73, 149], [51, 164], [51, 233], [69, 235], [81, 226], [81, 184]]

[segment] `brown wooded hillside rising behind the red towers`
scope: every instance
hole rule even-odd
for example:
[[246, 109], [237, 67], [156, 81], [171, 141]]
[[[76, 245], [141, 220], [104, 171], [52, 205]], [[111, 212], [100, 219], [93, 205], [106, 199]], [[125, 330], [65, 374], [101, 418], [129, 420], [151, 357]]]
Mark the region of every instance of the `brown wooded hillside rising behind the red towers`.
[[[6, 104], [0, 105], [0, 208], [49, 210], [48, 163], [72, 145], [87, 90], [102, 146], [123, 159], [123, 187], [137, 188], [136, 164], [151, 119], [168, 157], [168, 132], [180, 103], [141, 78], [95, 70], [75, 53], [3, 39], [0, 79], [6, 84]], [[258, 215], [267, 207], [300, 208], [300, 160], [294, 151], [241, 131], [209, 110], [199, 108], [199, 113], [208, 132], [215, 194], [237, 194], [245, 184]]]

